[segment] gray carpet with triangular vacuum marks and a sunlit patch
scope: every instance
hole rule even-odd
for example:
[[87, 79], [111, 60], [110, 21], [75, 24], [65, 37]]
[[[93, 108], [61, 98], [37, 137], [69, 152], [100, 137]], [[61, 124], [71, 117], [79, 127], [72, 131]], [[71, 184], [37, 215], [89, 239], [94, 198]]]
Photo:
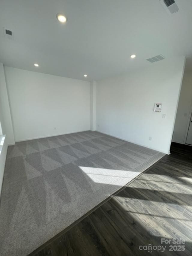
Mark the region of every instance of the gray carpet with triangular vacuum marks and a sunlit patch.
[[91, 131], [9, 146], [0, 254], [29, 254], [163, 156]]

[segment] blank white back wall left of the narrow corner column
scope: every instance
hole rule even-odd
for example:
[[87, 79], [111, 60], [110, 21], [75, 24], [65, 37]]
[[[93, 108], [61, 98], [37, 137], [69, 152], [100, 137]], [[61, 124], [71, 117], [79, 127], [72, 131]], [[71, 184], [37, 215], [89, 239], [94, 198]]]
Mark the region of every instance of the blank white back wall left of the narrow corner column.
[[16, 141], [90, 129], [89, 82], [4, 70]]

